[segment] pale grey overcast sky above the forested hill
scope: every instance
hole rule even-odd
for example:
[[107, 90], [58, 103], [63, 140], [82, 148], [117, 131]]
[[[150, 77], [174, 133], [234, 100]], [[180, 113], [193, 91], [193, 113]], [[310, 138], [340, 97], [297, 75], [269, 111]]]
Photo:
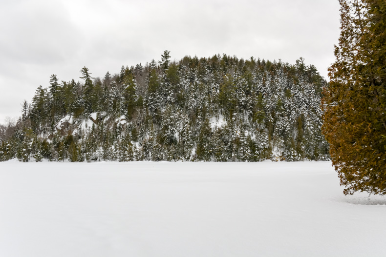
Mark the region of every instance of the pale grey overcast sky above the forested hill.
[[295, 63], [327, 77], [338, 0], [0, 0], [0, 123], [51, 74], [80, 80], [122, 65], [214, 54]]

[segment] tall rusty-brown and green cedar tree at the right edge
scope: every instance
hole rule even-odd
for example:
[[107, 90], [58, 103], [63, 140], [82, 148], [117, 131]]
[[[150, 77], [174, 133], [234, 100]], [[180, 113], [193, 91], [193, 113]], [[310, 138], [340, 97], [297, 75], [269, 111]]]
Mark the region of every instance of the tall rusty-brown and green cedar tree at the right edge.
[[343, 193], [386, 195], [386, 1], [339, 2], [322, 129]]

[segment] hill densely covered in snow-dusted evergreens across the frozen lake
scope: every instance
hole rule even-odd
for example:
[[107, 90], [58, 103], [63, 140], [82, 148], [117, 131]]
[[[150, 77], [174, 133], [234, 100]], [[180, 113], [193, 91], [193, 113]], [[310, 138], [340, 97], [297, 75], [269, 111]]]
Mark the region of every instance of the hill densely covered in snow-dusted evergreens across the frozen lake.
[[[0, 160], [325, 160], [315, 66], [186, 56], [39, 86], [0, 127]], [[48, 80], [48, 79], [47, 79]]]

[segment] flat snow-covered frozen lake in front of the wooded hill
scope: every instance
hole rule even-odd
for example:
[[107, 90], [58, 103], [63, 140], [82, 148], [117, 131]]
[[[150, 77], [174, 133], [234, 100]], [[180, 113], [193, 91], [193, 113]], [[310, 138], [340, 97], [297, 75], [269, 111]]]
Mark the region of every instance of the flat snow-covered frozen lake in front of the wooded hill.
[[385, 257], [331, 162], [0, 163], [0, 257]]

